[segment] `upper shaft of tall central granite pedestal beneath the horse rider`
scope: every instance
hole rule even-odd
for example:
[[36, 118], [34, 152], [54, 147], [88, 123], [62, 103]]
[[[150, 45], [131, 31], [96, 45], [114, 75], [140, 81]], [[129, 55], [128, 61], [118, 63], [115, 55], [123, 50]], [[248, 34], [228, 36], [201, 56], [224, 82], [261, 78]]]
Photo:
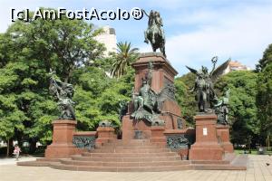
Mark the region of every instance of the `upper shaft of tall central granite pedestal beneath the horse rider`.
[[[178, 71], [160, 52], [141, 53], [139, 59], [132, 63], [132, 67], [135, 69], [134, 90], [139, 92], [141, 89], [142, 79], [147, 77], [150, 62], [153, 64], [151, 90], [156, 93], [161, 92], [161, 90], [169, 90], [166, 91], [168, 93], [165, 95], [168, 99], [163, 100], [160, 108], [160, 119], [165, 121], [165, 129], [178, 129], [178, 119], [181, 117], [180, 106], [175, 100], [175, 95], [170, 93], [171, 89], [174, 88], [174, 79]], [[131, 110], [129, 110], [130, 113]], [[182, 128], [185, 128], [185, 121], [180, 121]]]

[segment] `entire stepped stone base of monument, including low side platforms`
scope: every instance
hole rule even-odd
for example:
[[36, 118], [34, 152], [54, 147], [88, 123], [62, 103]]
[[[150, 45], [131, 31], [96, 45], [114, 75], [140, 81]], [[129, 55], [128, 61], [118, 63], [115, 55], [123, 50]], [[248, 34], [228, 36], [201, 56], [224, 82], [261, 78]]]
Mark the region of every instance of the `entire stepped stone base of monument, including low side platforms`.
[[70, 158], [38, 158], [18, 166], [52, 167], [73, 171], [160, 172], [180, 170], [246, 170], [247, 155], [225, 154], [223, 160], [181, 160], [170, 148], [149, 139], [115, 139]]

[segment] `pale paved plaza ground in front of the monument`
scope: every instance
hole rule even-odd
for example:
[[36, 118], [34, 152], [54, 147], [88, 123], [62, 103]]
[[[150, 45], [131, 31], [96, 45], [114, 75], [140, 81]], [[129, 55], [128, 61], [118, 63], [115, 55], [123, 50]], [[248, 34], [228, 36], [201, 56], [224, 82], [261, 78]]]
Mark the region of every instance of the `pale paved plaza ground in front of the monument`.
[[[22, 157], [21, 160], [33, 160], [34, 157]], [[267, 163], [270, 164], [267, 166]], [[0, 158], [0, 181], [190, 181], [190, 180], [266, 180], [272, 181], [272, 157], [249, 156], [247, 171], [223, 170], [184, 170], [175, 172], [112, 173], [112, 172], [76, 172], [57, 170], [50, 167], [19, 167], [15, 159]]]

